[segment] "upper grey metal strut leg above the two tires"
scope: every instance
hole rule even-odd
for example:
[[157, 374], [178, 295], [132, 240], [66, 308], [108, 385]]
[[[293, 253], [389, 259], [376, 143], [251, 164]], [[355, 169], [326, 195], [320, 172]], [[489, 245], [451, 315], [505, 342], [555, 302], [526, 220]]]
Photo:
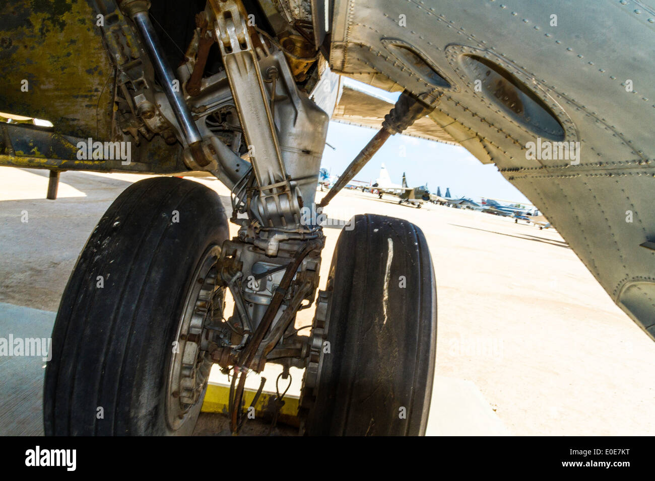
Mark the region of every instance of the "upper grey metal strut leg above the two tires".
[[240, 1], [207, 5], [255, 173], [251, 212], [264, 230], [306, 230], [300, 211], [314, 200], [329, 119], [299, 92], [284, 52], [247, 26]]

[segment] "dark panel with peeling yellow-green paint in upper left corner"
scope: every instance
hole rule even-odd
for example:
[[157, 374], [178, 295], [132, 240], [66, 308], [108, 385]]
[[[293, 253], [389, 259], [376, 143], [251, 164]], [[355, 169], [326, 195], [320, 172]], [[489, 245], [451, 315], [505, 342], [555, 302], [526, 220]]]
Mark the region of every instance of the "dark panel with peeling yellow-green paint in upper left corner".
[[50, 120], [59, 134], [109, 137], [113, 68], [86, 1], [3, 2], [0, 64], [0, 111]]

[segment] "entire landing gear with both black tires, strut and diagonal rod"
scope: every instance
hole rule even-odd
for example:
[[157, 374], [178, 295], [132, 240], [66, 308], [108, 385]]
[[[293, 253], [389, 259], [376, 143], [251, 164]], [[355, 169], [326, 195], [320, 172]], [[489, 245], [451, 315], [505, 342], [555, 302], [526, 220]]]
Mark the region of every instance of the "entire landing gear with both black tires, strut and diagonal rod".
[[[307, 213], [320, 213], [314, 196], [326, 113], [297, 86], [288, 52], [249, 26], [239, 0], [210, 0], [196, 17], [189, 68], [178, 75], [204, 65], [199, 56], [206, 48], [200, 47], [210, 35], [221, 52], [223, 78], [215, 82], [225, 84], [225, 95], [205, 110], [196, 105], [192, 115], [191, 94], [215, 94], [214, 80], [187, 73], [182, 80], [188, 82], [178, 82], [149, 23], [149, 3], [120, 5], [165, 94], [151, 99], [156, 109], [141, 98], [145, 120], [156, 116], [170, 126], [187, 166], [231, 188], [230, 221], [239, 228], [228, 240], [221, 201], [192, 181], [147, 179], [117, 198], [62, 298], [46, 370], [46, 433], [190, 434], [213, 364], [234, 373], [229, 418], [238, 433], [246, 375], [272, 362], [284, 372], [305, 368], [304, 433], [423, 434], [434, 375], [436, 290], [421, 230], [400, 219], [356, 217], [354, 230], [342, 232], [337, 243], [310, 336], [300, 335], [295, 316], [316, 298], [324, 246], [322, 226]], [[190, 85], [189, 96], [173, 87], [176, 82]], [[238, 141], [230, 145], [198, 127], [202, 115], [221, 105], [238, 113]], [[432, 108], [403, 93], [322, 205], [386, 137]], [[239, 153], [241, 136], [247, 154]], [[232, 312], [226, 312], [228, 297]]]

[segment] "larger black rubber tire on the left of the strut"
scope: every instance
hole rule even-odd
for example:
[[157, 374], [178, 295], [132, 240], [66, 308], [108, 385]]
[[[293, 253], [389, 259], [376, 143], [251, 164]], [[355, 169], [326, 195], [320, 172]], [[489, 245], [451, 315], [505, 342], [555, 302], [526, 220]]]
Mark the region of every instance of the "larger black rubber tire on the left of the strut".
[[219, 196], [193, 181], [145, 179], [111, 204], [77, 260], [52, 331], [46, 435], [193, 432], [202, 398], [178, 431], [164, 419], [171, 346], [198, 262], [228, 235]]

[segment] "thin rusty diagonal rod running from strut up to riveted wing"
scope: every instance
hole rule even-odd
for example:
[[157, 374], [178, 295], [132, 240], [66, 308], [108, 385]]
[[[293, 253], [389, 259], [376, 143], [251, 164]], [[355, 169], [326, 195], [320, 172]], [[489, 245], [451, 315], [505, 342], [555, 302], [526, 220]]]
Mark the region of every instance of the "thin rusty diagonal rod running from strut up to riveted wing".
[[411, 95], [407, 90], [403, 92], [396, 105], [391, 111], [384, 116], [382, 128], [377, 134], [366, 144], [366, 147], [357, 154], [346, 170], [341, 174], [339, 180], [327, 192], [326, 196], [321, 200], [320, 206], [325, 207], [332, 198], [337, 195], [339, 190], [344, 188], [352, 178], [362, 170], [366, 163], [371, 160], [375, 152], [380, 150], [384, 142], [391, 137], [391, 135], [401, 134], [403, 130], [411, 126], [416, 120], [422, 116], [428, 115], [434, 110], [434, 105], [426, 105], [421, 100]]

